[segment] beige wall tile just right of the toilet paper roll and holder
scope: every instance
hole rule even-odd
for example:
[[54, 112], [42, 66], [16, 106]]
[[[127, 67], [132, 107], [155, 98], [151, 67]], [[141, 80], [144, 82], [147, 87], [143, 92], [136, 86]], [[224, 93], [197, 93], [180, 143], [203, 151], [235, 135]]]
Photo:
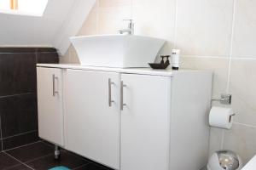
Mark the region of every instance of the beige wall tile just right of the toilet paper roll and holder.
[[235, 121], [256, 126], [256, 59], [233, 59], [230, 93]]

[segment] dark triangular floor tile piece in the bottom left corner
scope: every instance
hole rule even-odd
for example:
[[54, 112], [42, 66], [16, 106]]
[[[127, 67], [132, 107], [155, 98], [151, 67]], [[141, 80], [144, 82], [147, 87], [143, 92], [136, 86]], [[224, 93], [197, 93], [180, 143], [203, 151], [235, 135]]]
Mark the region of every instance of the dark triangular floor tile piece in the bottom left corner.
[[10, 167], [15, 167], [20, 165], [19, 161], [16, 161], [12, 157], [8, 156], [5, 153], [0, 153], [0, 170], [7, 169]]

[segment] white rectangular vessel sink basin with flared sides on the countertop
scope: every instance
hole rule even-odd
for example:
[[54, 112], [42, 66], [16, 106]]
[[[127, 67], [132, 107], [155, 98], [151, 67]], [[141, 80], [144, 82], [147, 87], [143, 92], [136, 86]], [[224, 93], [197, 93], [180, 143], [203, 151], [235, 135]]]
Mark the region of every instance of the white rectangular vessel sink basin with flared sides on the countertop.
[[71, 37], [81, 65], [148, 67], [165, 40], [134, 35]]

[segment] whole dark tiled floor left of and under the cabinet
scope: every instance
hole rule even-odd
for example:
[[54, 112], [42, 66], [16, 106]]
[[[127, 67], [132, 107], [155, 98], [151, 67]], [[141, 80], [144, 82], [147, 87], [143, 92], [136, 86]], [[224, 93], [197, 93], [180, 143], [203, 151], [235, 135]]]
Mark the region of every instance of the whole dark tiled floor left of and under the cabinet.
[[74, 170], [111, 170], [96, 162], [61, 150], [61, 159], [54, 160], [54, 146], [44, 141], [0, 153], [0, 170], [48, 170], [66, 166]]

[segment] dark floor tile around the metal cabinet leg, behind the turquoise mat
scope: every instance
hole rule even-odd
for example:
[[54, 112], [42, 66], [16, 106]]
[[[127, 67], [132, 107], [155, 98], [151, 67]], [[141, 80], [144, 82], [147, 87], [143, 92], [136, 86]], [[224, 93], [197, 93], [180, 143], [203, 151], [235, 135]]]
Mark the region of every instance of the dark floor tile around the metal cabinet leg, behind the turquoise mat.
[[73, 169], [75, 167], [81, 167], [88, 163], [89, 161], [84, 160], [80, 156], [76, 156], [66, 151], [61, 151], [61, 159], [58, 161], [56, 161], [54, 159], [54, 155], [52, 155], [45, 156], [34, 161], [28, 161], [26, 162], [26, 165], [36, 170], [46, 170], [56, 166], [65, 166]]

